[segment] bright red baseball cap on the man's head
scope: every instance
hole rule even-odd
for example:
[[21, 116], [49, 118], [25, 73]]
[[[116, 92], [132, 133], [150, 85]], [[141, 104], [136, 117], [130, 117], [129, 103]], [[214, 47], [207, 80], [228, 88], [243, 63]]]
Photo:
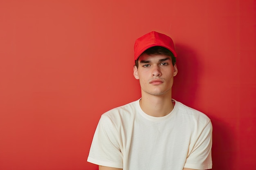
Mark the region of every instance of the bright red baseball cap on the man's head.
[[165, 34], [152, 31], [147, 33], [135, 41], [134, 44], [134, 60], [137, 60], [139, 56], [150, 47], [162, 46], [170, 50], [174, 57], [177, 57], [177, 53], [174, 49], [173, 40]]

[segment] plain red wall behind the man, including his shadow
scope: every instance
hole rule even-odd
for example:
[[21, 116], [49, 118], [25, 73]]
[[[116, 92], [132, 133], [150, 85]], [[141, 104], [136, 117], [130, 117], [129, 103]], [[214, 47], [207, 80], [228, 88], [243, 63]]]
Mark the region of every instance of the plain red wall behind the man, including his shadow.
[[0, 170], [96, 170], [99, 117], [140, 97], [133, 44], [177, 49], [173, 98], [213, 123], [213, 170], [255, 168], [254, 0], [0, 1]]

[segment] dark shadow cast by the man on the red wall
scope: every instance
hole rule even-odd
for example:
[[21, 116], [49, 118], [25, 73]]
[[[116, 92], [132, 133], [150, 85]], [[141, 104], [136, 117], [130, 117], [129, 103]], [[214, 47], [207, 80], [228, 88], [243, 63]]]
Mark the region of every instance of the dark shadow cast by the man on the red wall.
[[[195, 101], [198, 97], [198, 85], [202, 73], [202, 65], [193, 49], [183, 44], [176, 44], [178, 74], [174, 78], [173, 98], [187, 106], [198, 106]], [[234, 153], [236, 152], [233, 130], [225, 122], [207, 114], [213, 124], [212, 159], [213, 170], [234, 170]]]

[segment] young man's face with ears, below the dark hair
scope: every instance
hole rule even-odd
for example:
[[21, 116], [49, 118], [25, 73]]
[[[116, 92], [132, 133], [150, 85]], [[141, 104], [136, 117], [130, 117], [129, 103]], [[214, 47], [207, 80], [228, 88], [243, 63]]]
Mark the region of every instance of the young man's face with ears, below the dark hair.
[[139, 79], [142, 95], [171, 93], [173, 77], [177, 75], [177, 66], [176, 64], [173, 66], [170, 56], [142, 54], [138, 63], [138, 68], [134, 66], [133, 75]]

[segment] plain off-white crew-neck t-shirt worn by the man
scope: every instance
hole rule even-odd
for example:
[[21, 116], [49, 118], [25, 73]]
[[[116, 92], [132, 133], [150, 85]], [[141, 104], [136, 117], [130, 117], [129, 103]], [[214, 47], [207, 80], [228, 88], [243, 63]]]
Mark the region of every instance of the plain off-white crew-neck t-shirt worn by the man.
[[175, 101], [171, 113], [152, 117], [139, 100], [104, 113], [88, 162], [123, 170], [212, 168], [212, 125], [203, 113]]

